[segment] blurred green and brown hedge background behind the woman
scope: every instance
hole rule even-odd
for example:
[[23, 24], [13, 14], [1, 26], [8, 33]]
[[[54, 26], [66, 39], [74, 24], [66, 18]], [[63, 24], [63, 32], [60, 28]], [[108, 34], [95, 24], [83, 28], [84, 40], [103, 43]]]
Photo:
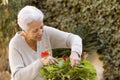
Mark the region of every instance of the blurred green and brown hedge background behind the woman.
[[[96, 50], [104, 63], [104, 80], [120, 79], [120, 0], [1, 0], [0, 80], [10, 80], [8, 44], [21, 30], [16, 16], [25, 5], [41, 9], [46, 25], [81, 36], [83, 51]], [[69, 50], [54, 50], [58, 52]]]

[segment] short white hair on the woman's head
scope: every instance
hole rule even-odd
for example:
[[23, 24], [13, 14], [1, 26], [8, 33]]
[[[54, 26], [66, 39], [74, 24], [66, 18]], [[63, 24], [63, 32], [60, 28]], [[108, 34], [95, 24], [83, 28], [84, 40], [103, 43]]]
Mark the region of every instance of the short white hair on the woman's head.
[[17, 16], [19, 27], [25, 31], [29, 29], [28, 23], [38, 19], [43, 20], [43, 18], [44, 14], [42, 11], [34, 6], [25, 6], [19, 11]]

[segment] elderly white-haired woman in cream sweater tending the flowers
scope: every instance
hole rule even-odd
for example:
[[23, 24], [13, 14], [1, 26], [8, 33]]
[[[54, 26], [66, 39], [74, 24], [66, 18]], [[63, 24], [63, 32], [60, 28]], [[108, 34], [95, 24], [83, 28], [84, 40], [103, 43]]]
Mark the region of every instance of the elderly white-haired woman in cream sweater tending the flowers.
[[[40, 53], [49, 49], [71, 48], [71, 66], [80, 62], [82, 40], [72, 33], [44, 25], [43, 13], [33, 6], [25, 6], [18, 13], [22, 29], [9, 44], [9, 63], [12, 80], [44, 80], [39, 76], [42, 66], [56, 62], [52, 57], [42, 59]], [[52, 53], [52, 52], [51, 52]]]

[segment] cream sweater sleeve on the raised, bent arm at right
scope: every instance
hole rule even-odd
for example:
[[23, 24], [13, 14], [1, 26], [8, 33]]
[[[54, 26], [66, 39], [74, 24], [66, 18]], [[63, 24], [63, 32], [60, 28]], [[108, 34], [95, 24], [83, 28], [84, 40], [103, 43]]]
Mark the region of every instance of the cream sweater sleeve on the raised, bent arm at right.
[[71, 48], [81, 55], [82, 53], [82, 39], [75, 34], [60, 31], [58, 29], [47, 27], [47, 34], [49, 35], [52, 48]]

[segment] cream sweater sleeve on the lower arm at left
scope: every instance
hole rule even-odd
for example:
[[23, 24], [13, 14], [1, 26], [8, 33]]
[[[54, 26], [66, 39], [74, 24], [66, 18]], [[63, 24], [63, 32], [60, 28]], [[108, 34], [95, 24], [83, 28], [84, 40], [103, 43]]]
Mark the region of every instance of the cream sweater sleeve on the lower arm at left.
[[34, 80], [41, 67], [39, 59], [25, 67], [19, 51], [11, 45], [9, 45], [9, 63], [14, 80]]

